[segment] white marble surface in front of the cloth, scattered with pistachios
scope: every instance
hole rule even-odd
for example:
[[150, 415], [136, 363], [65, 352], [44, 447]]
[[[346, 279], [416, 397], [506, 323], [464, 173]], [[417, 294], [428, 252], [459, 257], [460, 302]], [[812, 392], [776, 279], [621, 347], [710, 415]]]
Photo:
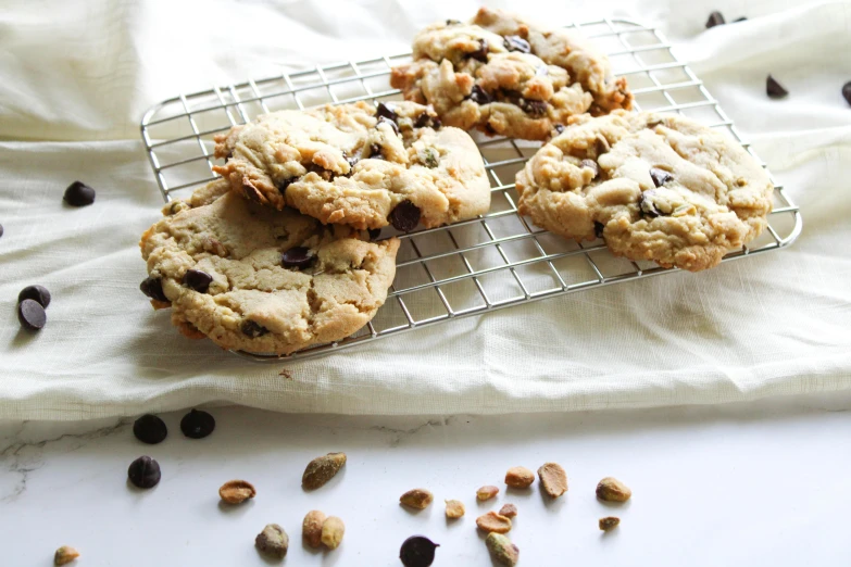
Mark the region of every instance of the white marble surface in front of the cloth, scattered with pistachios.
[[[83, 566], [266, 565], [253, 538], [278, 522], [291, 538], [284, 565], [395, 566], [411, 534], [441, 544], [436, 566], [491, 565], [475, 518], [516, 503], [512, 539], [521, 565], [849, 565], [851, 395], [756, 404], [503, 417], [351, 418], [212, 408], [208, 439], [185, 439], [182, 414], [164, 415], [168, 438], [139, 443], [130, 420], [0, 425], [0, 565], [51, 565], [62, 544]], [[349, 462], [313, 493], [304, 465], [329, 451]], [[129, 488], [128, 464], [157, 458], [161, 483]], [[506, 468], [545, 461], [567, 470], [570, 491], [549, 502], [537, 490], [504, 491], [476, 504], [481, 484], [502, 486]], [[613, 475], [633, 501], [593, 495]], [[239, 507], [217, 489], [242, 478], [258, 489]], [[398, 505], [414, 487], [435, 493], [422, 513]], [[504, 488], [504, 486], [503, 486]], [[466, 503], [455, 522], [443, 499]], [[334, 552], [303, 546], [313, 508], [347, 526]], [[598, 518], [622, 525], [602, 534]]]

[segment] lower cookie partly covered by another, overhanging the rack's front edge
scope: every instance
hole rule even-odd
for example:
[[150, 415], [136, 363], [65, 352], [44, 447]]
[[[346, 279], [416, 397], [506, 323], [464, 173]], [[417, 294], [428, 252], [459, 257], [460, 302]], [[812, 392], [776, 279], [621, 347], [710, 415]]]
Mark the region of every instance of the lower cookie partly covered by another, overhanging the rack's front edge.
[[139, 243], [149, 274], [142, 291], [154, 307], [172, 307], [184, 335], [289, 354], [350, 336], [387, 298], [398, 239], [370, 242], [349, 227], [263, 206], [224, 180], [193, 198], [166, 206]]

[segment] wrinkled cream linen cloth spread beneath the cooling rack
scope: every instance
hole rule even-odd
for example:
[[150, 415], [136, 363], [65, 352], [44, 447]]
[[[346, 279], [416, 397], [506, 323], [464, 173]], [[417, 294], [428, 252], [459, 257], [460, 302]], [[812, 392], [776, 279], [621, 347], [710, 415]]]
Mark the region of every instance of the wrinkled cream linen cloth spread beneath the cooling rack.
[[[178, 335], [139, 292], [162, 200], [139, 140], [179, 92], [409, 49], [470, 1], [61, 2], [0, 9], [0, 418], [238, 403], [452, 414], [706, 404], [851, 388], [851, 3], [500, 2], [551, 23], [659, 26], [803, 214], [788, 249], [573, 293], [300, 363]], [[704, 29], [712, 10], [730, 22]], [[601, 12], [605, 10], [606, 12]], [[772, 73], [790, 91], [765, 96]], [[80, 179], [98, 191], [71, 209]], [[50, 289], [20, 329], [18, 291]], [[290, 377], [281, 376], [283, 368]]]

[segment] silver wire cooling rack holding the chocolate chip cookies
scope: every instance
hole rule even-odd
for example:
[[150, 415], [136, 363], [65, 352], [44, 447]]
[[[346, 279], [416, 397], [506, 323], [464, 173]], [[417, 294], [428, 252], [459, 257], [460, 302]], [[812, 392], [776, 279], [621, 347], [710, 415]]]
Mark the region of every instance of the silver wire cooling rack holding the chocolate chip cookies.
[[[568, 27], [593, 38], [609, 54], [615, 74], [627, 77], [637, 110], [679, 113], [726, 130], [756, 158], [658, 29], [610, 18]], [[390, 67], [410, 59], [405, 53], [317, 65], [157, 104], [142, 118], [141, 136], [163, 198], [167, 202], [214, 179], [213, 136], [260, 114], [325, 103], [400, 100], [399, 91], [389, 87]], [[305, 358], [453, 318], [674, 270], [615, 257], [601, 240], [576, 243], [538, 229], [517, 212], [513, 181], [540, 144], [477, 134], [474, 138], [490, 177], [490, 211], [472, 220], [398, 235], [402, 245], [396, 280], [372, 323], [343, 340], [289, 356], [237, 354], [267, 362]], [[801, 232], [800, 212], [776, 182], [768, 223], [759, 239], [731, 251], [724, 261], [779, 250]], [[391, 232], [388, 227], [383, 236]]]

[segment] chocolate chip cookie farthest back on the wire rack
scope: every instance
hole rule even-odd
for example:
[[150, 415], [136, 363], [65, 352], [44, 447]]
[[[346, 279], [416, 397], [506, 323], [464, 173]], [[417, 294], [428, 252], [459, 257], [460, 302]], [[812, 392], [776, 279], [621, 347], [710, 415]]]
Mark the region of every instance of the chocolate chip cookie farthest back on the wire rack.
[[571, 116], [633, 104], [626, 80], [590, 41], [488, 8], [467, 24], [423, 29], [413, 61], [393, 67], [390, 84], [449, 126], [530, 140], [549, 138]]

